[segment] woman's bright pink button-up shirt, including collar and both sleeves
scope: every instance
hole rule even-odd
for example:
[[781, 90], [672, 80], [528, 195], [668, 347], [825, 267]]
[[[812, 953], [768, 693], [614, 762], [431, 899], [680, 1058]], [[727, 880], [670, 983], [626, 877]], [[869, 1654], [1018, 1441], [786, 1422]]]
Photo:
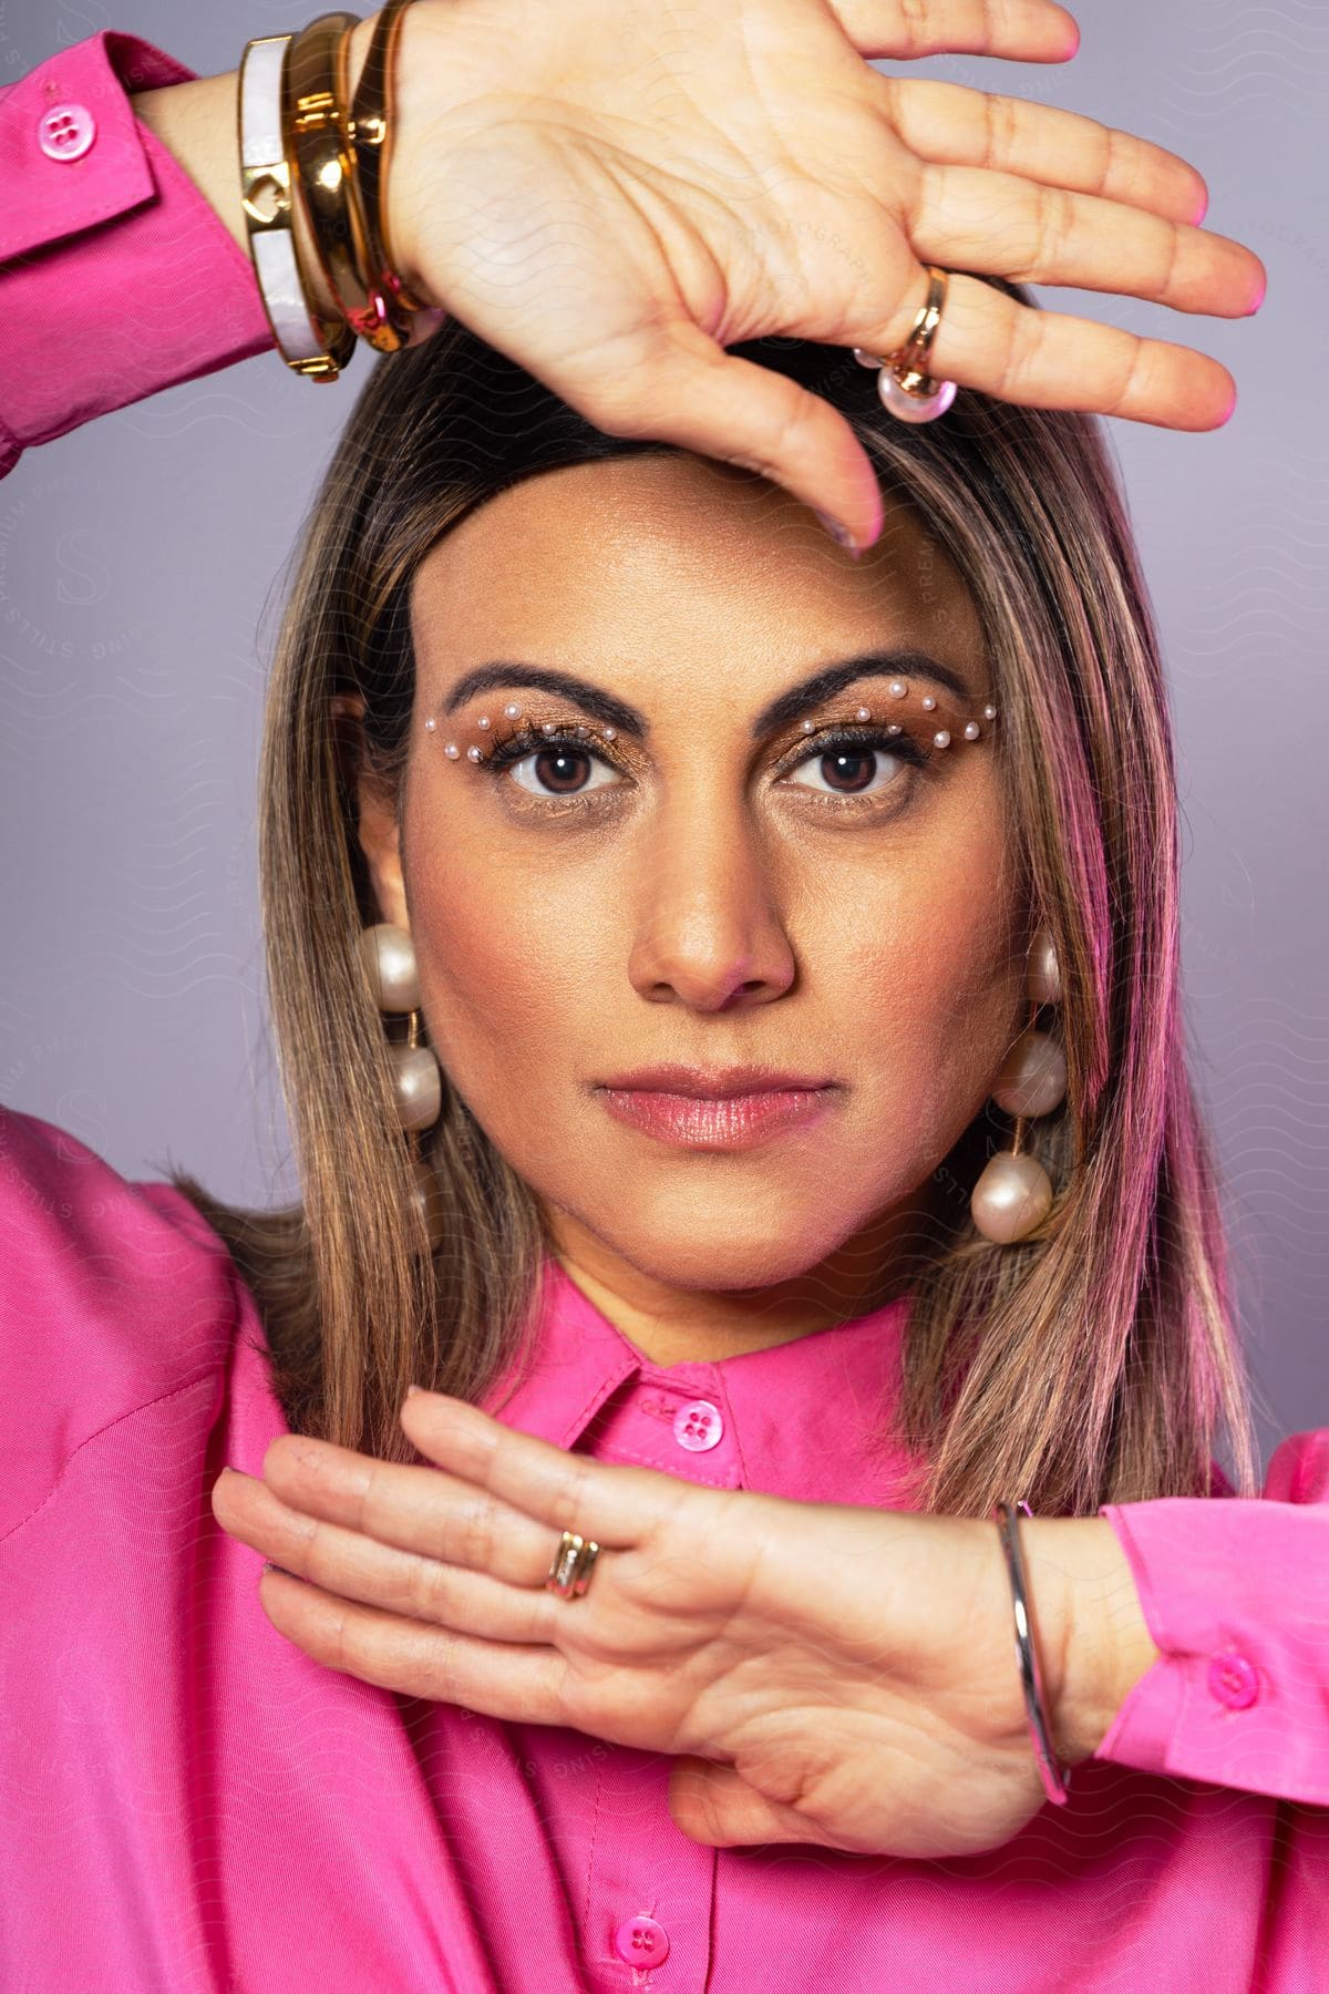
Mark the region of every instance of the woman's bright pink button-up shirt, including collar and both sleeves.
[[[98, 34], [0, 94], [0, 471], [271, 345], [247, 259], [126, 98], [187, 74]], [[283, 1641], [209, 1494], [287, 1428], [253, 1300], [177, 1192], [0, 1111], [0, 1252], [6, 1990], [1329, 1984], [1329, 1432], [1285, 1440], [1253, 1501], [1104, 1505], [1162, 1655], [1070, 1805], [940, 1862], [709, 1850], [669, 1819], [667, 1757]], [[538, 1370], [486, 1406], [600, 1460], [891, 1503], [863, 1430], [905, 1306], [658, 1368], [548, 1262]]]

